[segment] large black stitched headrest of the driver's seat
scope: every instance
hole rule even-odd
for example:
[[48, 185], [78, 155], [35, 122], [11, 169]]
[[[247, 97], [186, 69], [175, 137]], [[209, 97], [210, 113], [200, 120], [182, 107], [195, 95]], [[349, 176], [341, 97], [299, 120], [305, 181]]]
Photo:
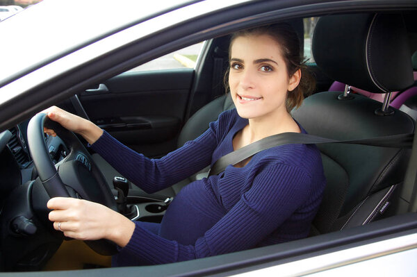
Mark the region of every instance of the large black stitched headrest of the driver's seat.
[[313, 56], [330, 78], [369, 92], [394, 92], [414, 83], [401, 15], [320, 17], [313, 35]]

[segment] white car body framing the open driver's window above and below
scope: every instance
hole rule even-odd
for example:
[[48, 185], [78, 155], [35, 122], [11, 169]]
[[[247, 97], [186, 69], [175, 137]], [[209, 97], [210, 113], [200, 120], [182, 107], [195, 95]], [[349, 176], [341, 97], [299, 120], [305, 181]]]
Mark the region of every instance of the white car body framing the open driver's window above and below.
[[[127, 2], [127, 3], [126, 3]], [[162, 2], [162, 3], [161, 3]], [[106, 57], [122, 49], [129, 44], [147, 42], [149, 37], [158, 35], [165, 30], [183, 31], [172, 26], [181, 26], [186, 22], [211, 16], [222, 10], [234, 9], [234, 6], [245, 6], [252, 1], [150, 1], [144, 5], [141, 1], [124, 1], [123, 17], [115, 17], [114, 1], [82, 1], [73, 0], [44, 0], [33, 7], [19, 12], [18, 15], [1, 22], [0, 33], [3, 37], [13, 37], [13, 42], [0, 42], [1, 53], [19, 53], [16, 60], [14, 55], [4, 55], [0, 67], [0, 128], [1, 131], [27, 119], [39, 112], [42, 108], [56, 103], [57, 99], [69, 96], [74, 90], [97, 83], [102, 79], [120, 74], [134, 65], [152, 60], [155, 56], [161, 56], [169, 51], [201, 40], [209, 40], [212, 36], [223, 35], [234, 28], [240, 28], [247, 22], [261, 22], [265, 17], [274, 14], [276, 17], [295, 15], [320, 15], [323, 8], [327, 12], [338, 10], [355, 10], [355, 4], [361, 1], [330, 1], [328, 6], [320, 1], [306, 1], [298, 3], [294, 7], [291, 1], [282, 1], [283, 8], [277, 8], [271, 12], [259, 12], [258, 14], [234, 18], [230, 22], [222, 24], [211, 23], [204, 26], [201, 31], [190, 33], [186, 37], [176, 37], [171, 43], [158, 47], [144, 47], [142, 53], [132, 54], [130, 59], [121, 60], [119, 65], [112, 65], [108, 72], [89, 72], [89, 77], [82, 78], [74, 85], [60, 87], [56, 91], [39, 92], [35, 88], [50, 85], [54, 78], [67, 76], [74, 69], [83, 69], [86, 65], [97, 60], [105, 60]], [[352, 2], [343, 3], [343, 2]], [[395, 1], [385, 1], [386, 5], [394, 5]], [[384, 1], [366, 1], [373, 8], [380, 5], [383, 8]], [[412, 1], [402, 1], [399, 8], [417, 8]], [[374, 6], [373, 6], [374, 5]], [[165, 6], [165, 7], [164, 7]], [[172, 8], [177, 6], [179, 8]], [[83, 7], [83, 8], [80, 8]], [[171, 7], [171, 8], [168, 8]], [[367, 9], [363, 6], [363, 9]], [[0, 6], [1, 9], [8, 7]], [[94, 12], [92, 12], [94, 10]], [[164, 10], [168, 10], [165, 12]], [[293, 12], [293, 13], [292, 13]], [[6, 17], [10, 17], [10, 13]], [[74, 15], [76, 17], [74, 18]], [[149, 17], [149, 15], [151, 15]], [[0, 19], [3, 21], [0, 12]], [[94, 17], [94, 18], [93, 18]], [[36, 24], [33, 24], [36, 22]], [[60, 22], [60, 24], [51, 24]], [[85, 28], [88, 26], [88, 28]], [[19, 35], [15, 35], [19, 33]], [[179, 32], [181, 33], [181, 32]], [[54, 34], [54, 36], [52, 36]], [[182, 34], [182, 33], [181, 33]], [[42, 41], [37, 44], [34, 42]], [[31, 45], [30, 51], [25, 51], [27, 45]], [[123, 63], [125, 62], [125, 63]], [[197, 65], [198, 67], [198, 65]], [[35, 96], [33, 93], [35, 92]], [[35, 97], [36, 101], [30, 105], [24, 103], [24, 99]], [[33, 98], [32, 98], [33, 99]], [[20, 104], [19, 104], [20, 103]], [[10, 108], [11, 107], [11, 108]], [[13, 107], [18, 112], [14, 112]], [[1, 111], [2, 110], [2, 111]], [[322, 235], [319, 238], [311, 237], [298, 242], [290, 242], [281, 246], [269, 246], [265, 249], [252, 249], [241, 253], [231, 253], [224, 256], [205, 258], [201, 261], [182, 262], [181, 265], [165, 265], [139, 268], [121, 269], [94, 269], [91, 271], [63, 271], [62, 275], [93, 274], [91, 276], [114, 276], [136, 274], [147, 276], [177, 275], [182, 274], [206, 274], [216, 276], [391, 276], [397, 272], [400, 276], [416, 276], [417, 264], [415, 262], [417, 249], [417, 227], [410, 222], [417, 222], [414, 213], [395, 217], [389, 226], [384, 223], [370, 224], [372, 226], [343, 230], [339, 233]], [[392, 232], [388, 229], [397, 226]], [[411, 227], [407, 227], [411, 226]], [[375, 235], [379, 228], [387, 228], [386, 232]], [[391, 230], [391, 229], [390, 229]], [[373, 233], [375, 232], [375, 233]], [[391, 232], [391, 233], [390, 233]], [[360, 239], [353, 237], [361, 234]], [[344, 237], [351, 238], [346, 242], [336, 242]], [[321, 241], [322, 240], [322, 241]], [[297, 249], [299, 245], [306, 248], [314, 243], [332, 242], [330, 246], [313, 251], [303, 252], [302, 248], [292, 255], [281, 255], [288, 249]], [[301, 247], [301, 246], [300, 246]], [[4, 255], [5, 253], [0, 253]], [[275, 257], [277, 255], [277, 257]], [[404, 269], [404, 267], [407, 267]], [[186, 270], [188, 269], [188, 271]], [[364, 271], [365, 270], [365, 271]], [[8, 276], [10, 273], [0, 273], [0, 276]], [[22, 276], [35, 276], [38, 273], [26, 273]], [[57, 273], [44, 272], [44, 276], [55, 276]], [[61, 274], [61, 273], [59, 273]], [[193, 275], [194, 276], [194, 275]]]

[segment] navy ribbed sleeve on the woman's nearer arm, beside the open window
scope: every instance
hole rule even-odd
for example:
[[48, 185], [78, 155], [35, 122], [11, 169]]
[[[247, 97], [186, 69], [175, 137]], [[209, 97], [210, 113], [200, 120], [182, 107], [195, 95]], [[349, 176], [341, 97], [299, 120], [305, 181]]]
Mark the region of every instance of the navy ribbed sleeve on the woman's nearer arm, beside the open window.
[[304, 204], [310, 190], [311, 177], [302, 169], [277, 163], [261, 170], [236, 205], [194, 245], [166, 240], [137, 222], [124, 251], [145, 263], [163, 264], [250, 249]]

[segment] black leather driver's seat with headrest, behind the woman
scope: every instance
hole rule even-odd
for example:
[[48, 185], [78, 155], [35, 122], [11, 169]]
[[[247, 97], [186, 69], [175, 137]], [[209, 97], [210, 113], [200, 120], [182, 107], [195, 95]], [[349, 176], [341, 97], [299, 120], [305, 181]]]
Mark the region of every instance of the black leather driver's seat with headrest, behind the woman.
[[[408, 47], [401, 15], [325, 16], [319, 19], [313, 36], [313, 55], [325, 74], [379, 94], [414, 83]], [[313, 94], [293, 111], [293, 117], [308, 133], [335, 140], [414, 133], [414, 120], [404, 112], [381, 108], [382, 103], [360, 94], [340, 95]], [[366, 224], [384, 212], [389, 197], [404, 180], [409, 149], [347, 144], [318, 147], [327, 187], [313, 221], [313, 234]]]

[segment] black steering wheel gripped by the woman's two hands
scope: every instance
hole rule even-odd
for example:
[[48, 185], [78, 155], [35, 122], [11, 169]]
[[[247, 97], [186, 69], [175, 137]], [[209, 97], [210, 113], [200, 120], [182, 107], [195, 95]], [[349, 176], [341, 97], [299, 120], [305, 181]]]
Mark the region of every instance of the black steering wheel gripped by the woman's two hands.
[[[70, 153], [59, 162], [58, 170], [49, 156], [44, 126], [54, 129], [70, 149]], [[106, 179], [74, 133], [49, 119], [46, 114], [39, 113], [29, 121], [28, 146], [40, 181], [51, 198], [80, 198], [101, 203], [117, 211], [117, 204]], [[90, 240], [85, 243], [101, 255], [117, 253], [116, 245], [109, 240]]]

